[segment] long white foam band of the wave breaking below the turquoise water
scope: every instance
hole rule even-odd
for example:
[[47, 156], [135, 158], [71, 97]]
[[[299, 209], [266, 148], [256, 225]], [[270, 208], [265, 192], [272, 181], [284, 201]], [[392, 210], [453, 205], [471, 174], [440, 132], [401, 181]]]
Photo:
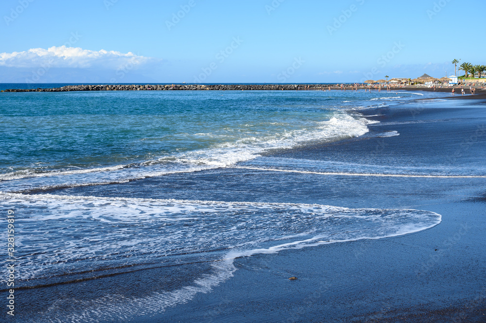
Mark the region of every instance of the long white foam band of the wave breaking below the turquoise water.
[[302, 128], [268, 136], [247, 136], [234, 141], [214, 144], [208, 149], [176, 153], [159, 159], [140, 163], [115, 165], [110, 167], [50, 170], [14, 171], [0, 175], [0, 189], [21, 191], [33, 187], [65, 187], [91, 183], [115, 183], [146, 177], [161, 176], [181, 172], [194, 172], [234, 165], [256, 158], [269, 149], [286, 149], [312, 140], [332, 141], [348, 137], [362, 136], [369, 130], [370, 121], [355, 119], [337, 111], [326, 121], [315, 122], [312, 128]]

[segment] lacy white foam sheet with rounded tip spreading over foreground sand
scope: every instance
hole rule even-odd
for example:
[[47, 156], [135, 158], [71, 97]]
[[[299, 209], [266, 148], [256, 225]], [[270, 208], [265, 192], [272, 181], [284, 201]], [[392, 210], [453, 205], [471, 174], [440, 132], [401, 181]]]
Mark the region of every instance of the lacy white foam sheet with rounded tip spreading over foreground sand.
[[[0, 193], [23, 210], [16, 226], [19, 279], [79, 272], [93, 263], [209, 261], [212, 272], [172, 291], [105, 295], [65, 311], [58, 300], [32, 322], [116, 321], [189, 302], [229, 279], [235, 258], [317, 245], [379, 239], [439, 224], [429, 211], [349, 209], [319, 204], [181, 201]], [[136, 224], [136, 225], [135, 225]], [[52, 234], [46, 231], [52, 230]], [[90, 234], [91, 233], [91, 234]], [[73, 238], [75, 237], [75, 238]], [[220, 250], [215, 252], [215, 250]], [[178, 256], [171, 255], [176, 251]], [[171, 260], [172, 259], [172, 260]], [[98, 264], [98, 265], [99, 265]], [[194, 265], [195, 266], [195, 265]], [[80, 300], [69, 298], [69, 302]]]

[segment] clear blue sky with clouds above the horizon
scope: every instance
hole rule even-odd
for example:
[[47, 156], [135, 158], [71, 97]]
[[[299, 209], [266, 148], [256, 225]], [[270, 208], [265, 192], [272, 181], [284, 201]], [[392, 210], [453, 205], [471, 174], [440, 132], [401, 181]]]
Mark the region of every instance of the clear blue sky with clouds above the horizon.
[[0, 82], [442, 77], [454, 58], [486, 64], [473, 28], [485, 9], [484, 0], [4, 0]]

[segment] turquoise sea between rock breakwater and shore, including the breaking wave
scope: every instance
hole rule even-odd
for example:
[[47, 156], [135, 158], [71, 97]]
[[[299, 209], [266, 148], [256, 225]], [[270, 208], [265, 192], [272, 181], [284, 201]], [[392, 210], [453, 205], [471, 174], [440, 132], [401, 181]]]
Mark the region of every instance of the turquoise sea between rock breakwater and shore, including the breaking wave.
[[25, 188], [66, 184], [67, 177], [37, 180], [58, 172], [96, 172], [93, 183], [141, 178], [367, 132], [367, 121], [342, 102], [359, 94], [323, 93], [5, 93], [0, 179], [22, 179]]

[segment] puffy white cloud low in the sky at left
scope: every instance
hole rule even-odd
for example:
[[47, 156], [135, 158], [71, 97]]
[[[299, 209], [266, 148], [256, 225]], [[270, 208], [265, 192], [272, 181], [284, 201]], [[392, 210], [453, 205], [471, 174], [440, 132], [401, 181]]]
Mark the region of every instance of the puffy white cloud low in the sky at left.
[[139, 56], [132, 52], [90, 51], [79, 47], [52, 46], [50, 48], [33, 48], [28, 51], [0, 53], [0, 66], [14, 68], [104, 68], [118, 69], [127, 65], [139, 66], [151, 58]]

